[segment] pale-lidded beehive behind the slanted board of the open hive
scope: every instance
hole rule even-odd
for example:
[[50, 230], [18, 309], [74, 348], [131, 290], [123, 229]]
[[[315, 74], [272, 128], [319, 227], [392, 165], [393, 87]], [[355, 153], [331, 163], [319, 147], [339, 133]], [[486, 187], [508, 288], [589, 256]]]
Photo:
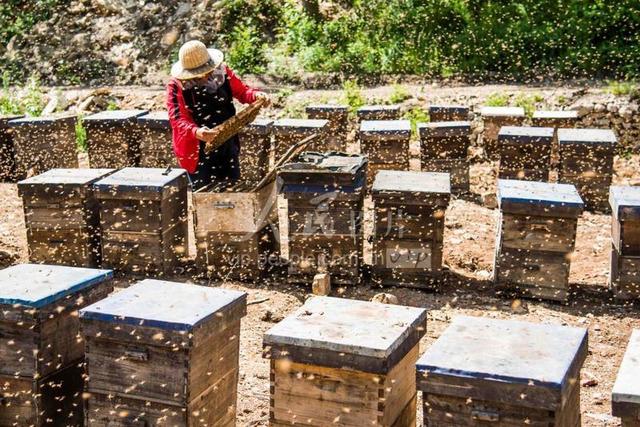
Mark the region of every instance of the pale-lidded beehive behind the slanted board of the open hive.
[[329, 120], [280, 119], [274, 121], [271, 125], [271, 131], [273, 133], [276, 161], [296, 142], [313, 134], [321, 134], [322, 137], [310, 144], [307, 150], [318, 152], [327, 151], [324, 136], [328, 130]]

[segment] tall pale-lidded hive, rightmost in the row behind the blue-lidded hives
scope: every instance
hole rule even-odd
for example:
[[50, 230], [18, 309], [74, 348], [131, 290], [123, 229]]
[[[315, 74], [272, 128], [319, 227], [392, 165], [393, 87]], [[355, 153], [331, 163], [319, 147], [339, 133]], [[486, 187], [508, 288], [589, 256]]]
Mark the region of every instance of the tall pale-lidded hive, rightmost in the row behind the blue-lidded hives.
[[616, 135], [610, 129], [558, 129], [558, 181], [573, 184], [589, 209], [606, 210]]

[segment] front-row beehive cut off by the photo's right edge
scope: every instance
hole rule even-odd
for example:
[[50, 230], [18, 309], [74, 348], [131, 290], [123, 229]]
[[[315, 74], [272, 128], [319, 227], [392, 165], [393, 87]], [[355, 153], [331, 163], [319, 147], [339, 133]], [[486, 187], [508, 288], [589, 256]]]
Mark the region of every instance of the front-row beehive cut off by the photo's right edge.
[[611, 413], [622, 418], [622, 427], [640, 425], [640, 330], [634, 329], [611, 393]]

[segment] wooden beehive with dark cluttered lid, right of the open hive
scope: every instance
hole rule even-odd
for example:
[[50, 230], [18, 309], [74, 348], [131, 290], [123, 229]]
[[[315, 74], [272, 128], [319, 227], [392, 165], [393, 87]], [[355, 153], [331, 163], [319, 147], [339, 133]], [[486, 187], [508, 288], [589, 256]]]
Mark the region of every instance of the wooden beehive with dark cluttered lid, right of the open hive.
[[[319, 153], [308, 154], [313, 156]], [[348, 154], [345, 156], [346, 158], [360, 157], [363, 163], [359, 168], [366, 174], [367, 162], [364, 157]], [[283, 227], [288, 229], [288, 281], [296, 284], [311, 284], [316, 273], [326, 272], [331, 275], [332, 283], [341, 285], [359, 283], [362, 266], [364, 176], [361, 177], [362, 182], [354, 186], [356, 191], [343, 191], [345, 180], [350, 180], [351, 172], [317, 168], [313, 170], [313, 174], [319, 182], [311, 184], [311, 187], [319, 186], [322, 190], [316, 192], [315, 190], [307, 191], [304, 188], [306, 183], [300, 183], [305, 179], [303, 177], [305, 169], [288, 171], [288, 173], [293, 176], [302, 175], [296, 177], [293, 180], [295, 184], [292, 184], [301, 188], [289, 191], [290, 189], [285, 187], [282, 192], [287, 206], [289, 224], [288, 227]], [[336, 190], [325, 191], [329, 188], [336, 188]], [[320, 206], [322, 208], [319, 211]], [[323, 217], [322, 209], [324, 208], [333, 210], [329, 230], [324, 230], [323, 224], [314, 222], [318, 219], [316, 214], [319, 213], [319, 217]], [[337, 229], [333, 222], [336, 215]], [[309, 225], [314, 228], [313, 231], [307, 229]], [[300, 229], [301, 226], [302, 232], [292, 231]], [[327, 249], [330, 249], [331, 253]]]

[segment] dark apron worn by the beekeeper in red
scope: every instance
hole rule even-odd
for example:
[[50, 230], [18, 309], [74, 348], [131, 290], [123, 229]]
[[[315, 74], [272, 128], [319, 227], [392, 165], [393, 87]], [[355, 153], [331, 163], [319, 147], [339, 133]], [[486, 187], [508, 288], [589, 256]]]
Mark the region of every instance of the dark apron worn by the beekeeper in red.
[[[236, 114], [227, 78], [215, 93], [204, 87], [195, 87], [184, 91], [184, 99], [193, 120], [200, 127], [213, 129]], [[209, 154], [205, 154], [204, 146], [205, 143], [200, 141], [198, 166], [194, 173], [189, 174], [194, 191], [210, 184], [214, 189], [222, 190], [240, 179], [240, 141], [237, 136]]]

